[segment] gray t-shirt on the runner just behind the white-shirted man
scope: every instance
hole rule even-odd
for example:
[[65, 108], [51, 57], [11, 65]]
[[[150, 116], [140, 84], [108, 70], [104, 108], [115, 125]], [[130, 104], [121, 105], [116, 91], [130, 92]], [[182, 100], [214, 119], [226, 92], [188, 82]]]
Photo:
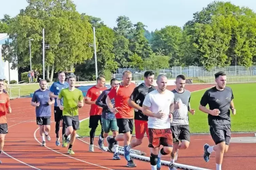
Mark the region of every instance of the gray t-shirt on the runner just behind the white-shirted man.
[[181, 103], [182, 107], [180, 109], [174, 109], [171, 126], [188, 125], [188, 110], [190, 109], [189, 101], [191, 92], [186, 89], [184, 89], [182, 93], [178, 93], [175, 89], [173, 89], [172, 92], [174, 93], [174, 102]]

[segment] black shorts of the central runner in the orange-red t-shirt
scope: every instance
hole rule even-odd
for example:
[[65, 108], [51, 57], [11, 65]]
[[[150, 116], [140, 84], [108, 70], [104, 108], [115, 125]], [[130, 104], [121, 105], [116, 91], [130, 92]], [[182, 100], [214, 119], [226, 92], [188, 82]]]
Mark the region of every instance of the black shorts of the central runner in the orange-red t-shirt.
[[133, 127], [134, 127], [134, 120], [133, 119], [125, 119], [120, 118], [117, 119], [117, 126], [119, 128], [119, 133], [127, 133], [130, 131], [130, 133], [133, 133]]

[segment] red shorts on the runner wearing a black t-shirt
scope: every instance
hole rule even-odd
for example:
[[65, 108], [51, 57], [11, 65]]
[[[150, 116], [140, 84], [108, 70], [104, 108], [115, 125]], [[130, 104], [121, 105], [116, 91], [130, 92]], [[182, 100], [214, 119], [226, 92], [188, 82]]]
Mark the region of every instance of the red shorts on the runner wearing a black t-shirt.
[[134, 120], [134, 126], [136, 139], [142, 139], [145, 132], [147, 133], [147, 136], [149, 136], [148, 121]]

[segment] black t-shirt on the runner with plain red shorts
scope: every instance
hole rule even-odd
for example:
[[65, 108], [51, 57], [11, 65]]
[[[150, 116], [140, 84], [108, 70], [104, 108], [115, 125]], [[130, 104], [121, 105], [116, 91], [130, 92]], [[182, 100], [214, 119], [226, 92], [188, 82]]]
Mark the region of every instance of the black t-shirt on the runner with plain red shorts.
[[[134, 88], [133, 93], [130, 96], [130, 99], [133, 100], [140, 107], [142, 107], [146, 95], [155, 89], [156, 88], [154, 86], [146, 87], [144, 83], [141, 83], [140, 85]], [[134, 109], [134, 112], [134, 119], [148, 121], [148, 116], [143, 114], [141, 110]]]

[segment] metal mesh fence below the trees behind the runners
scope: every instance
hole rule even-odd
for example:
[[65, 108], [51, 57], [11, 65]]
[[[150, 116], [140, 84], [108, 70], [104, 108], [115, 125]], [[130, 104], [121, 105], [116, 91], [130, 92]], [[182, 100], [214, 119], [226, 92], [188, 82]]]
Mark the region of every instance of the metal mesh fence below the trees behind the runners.
[[[135, 70], [132, 68], [118, 69], [118, 73], [113, 74], [112, 77], [116, 79], [122, 78], [122, 72], [124, 70], [132, 70], [133, 80], [143, 80], [144, 72]], [[224, 71], [228, 78], [230, 77], [253, 77], [256, 76], [256, 66], [245, 67], [245, 66], [225, 66], [225, 67], [214, 67], [210, 70], [206, 70], [204, 66], [188, 66], [180, 67], [175, 66], [167, 69], [153, 70], [155, 75], [164, 74], [168, 79], [176, 78], [178, 75], [184, 75], [186, 78], [198, 78], [201, 80], [214, 79], [214, 74], [219, 71]], [[245, 78], [244, 78], [245, 79]], [[241, 79], [242, 80], [242, 79]], [[246, 78], [250, 80], [250, 78]]]

